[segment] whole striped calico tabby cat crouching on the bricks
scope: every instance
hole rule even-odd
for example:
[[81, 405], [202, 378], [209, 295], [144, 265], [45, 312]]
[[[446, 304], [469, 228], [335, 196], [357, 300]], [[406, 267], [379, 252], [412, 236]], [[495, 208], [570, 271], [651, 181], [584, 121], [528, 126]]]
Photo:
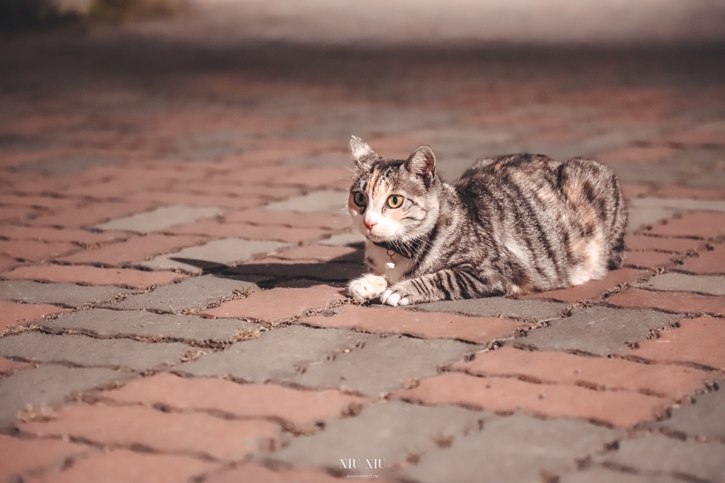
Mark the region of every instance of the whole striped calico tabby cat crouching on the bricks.
[[384, 159], [352, 137], [348, 209], [370, 273], [348, 286], [389, 305], [516, 295], [581, 285], [624, 259], [626, 204], [592, 159], [481, 159], [449, 184], [431, 148]]

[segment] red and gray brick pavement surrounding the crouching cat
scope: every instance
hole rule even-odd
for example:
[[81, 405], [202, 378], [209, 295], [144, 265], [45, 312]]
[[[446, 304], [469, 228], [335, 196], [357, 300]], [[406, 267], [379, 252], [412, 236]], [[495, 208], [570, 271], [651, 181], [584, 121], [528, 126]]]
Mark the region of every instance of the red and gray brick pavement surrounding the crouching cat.
[[[1, 482], [725, 481], [720, 57], [175, 49], [0, 55]], [[351, 133], [597, 156], [624, 267], [352, 303]]]

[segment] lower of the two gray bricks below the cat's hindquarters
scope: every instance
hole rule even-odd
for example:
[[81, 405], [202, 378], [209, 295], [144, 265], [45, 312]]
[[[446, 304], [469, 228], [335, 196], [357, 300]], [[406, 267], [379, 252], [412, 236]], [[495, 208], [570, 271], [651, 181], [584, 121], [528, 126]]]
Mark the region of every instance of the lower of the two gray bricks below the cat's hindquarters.
[[549, 327], [529, 331], [526, 337], [504, 345], [539, 350], [566, 350], [607, 356], [629, 350], [627, 343], [645, 340], [651, 329], [664, 329], [682, 319], [662, 312], [589, 307], [571, 317], [550, 322]]

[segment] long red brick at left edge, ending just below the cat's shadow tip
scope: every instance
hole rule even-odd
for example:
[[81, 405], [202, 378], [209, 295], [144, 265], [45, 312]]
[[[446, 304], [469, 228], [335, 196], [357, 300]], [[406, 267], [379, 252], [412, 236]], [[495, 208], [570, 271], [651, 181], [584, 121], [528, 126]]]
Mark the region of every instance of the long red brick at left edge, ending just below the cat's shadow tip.
[[86, 265], [33, 265], [20, 266], [0, 275], [9, 280], [38, 280], [47, 282], [74, 282], [87, 285], [120, 285], [149, 288], [165, 285], [188, 277], [176, 272], [146, 272], [133, 269], [101, 269]]

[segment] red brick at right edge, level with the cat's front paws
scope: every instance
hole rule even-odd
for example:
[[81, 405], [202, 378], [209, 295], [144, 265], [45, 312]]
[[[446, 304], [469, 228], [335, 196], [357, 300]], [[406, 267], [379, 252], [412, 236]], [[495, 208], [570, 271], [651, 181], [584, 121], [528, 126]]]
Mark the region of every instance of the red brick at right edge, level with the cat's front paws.
[[607, 298], [619, 307], [659, 308], [675, 314], [725, 315], [725, 297], [697, 295], [686, 292], [653, 292], [631, 287]]

